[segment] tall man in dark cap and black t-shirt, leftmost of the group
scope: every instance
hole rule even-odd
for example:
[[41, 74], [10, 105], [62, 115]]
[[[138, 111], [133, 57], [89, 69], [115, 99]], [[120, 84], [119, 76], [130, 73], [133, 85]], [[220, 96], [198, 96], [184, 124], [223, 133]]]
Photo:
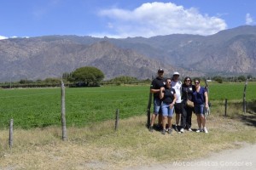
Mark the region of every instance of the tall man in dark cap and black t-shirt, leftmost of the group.
[[153, 132], [154, 121], [157, 115], [159, 115], [159, 123], [161, 123], [161, 116], [160, 116], [160, 88], [165, 87], [166, 85], [166, 78], [164, 78], [164, 70], [159, 69], [157, 71], [158, 77], [154, 78], [150, 85], [150, 93], [154, 94], [154, 113], [151, 116], [151, 123], [149, 126], [149, 131]]

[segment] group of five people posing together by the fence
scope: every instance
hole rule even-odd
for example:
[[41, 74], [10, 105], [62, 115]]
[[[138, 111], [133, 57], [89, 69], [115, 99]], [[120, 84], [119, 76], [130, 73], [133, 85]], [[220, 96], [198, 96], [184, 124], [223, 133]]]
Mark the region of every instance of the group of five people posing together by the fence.
[[[195, 79], [194, 85], [190, 77], [179, 81], [179, 73], [175, 71], [172, 78], [164, 77], [164, 70], [158, 70], [158, 77], [151, 82], [150, 93], [154, 94], [154, 113], [148, 127], [153, 132], [154, 122], [158, 116], [158, 126], [161, 133], [172, 133], [172, 129], [179, 133], [184, 130], [193, 131], [192, 113], [195, 112], [198, 129], [195, 132], [208, 133], [206, 127], [206, 111], [208, 110], [207, 89], [200, 86], [200, 80]], [[187, 105], [190, 100], [194, 106]], [[175, 124], [172, 126], [172, 117], [175, 116]], [[180, 122], [180, 123], [179, 123]]]

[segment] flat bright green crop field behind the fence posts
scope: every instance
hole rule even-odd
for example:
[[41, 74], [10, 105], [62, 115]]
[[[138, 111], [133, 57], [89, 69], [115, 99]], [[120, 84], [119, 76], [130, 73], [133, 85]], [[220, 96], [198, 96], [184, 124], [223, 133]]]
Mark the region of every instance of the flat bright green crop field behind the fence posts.
[[[244, 83], [209, 83], [210, 100], [242, 101]], [[119, 117], [146, 115], [148, 86], [66, 88], [67, 126], [83, 127], [90, 123]], [[247, 101], [256, 99], [256, 83], [247, 85]], [[47, 127], [61, 125], [61, 88], [0, 89], [0, 127]], [[145, 116], [145, 122], [146, 122]]]

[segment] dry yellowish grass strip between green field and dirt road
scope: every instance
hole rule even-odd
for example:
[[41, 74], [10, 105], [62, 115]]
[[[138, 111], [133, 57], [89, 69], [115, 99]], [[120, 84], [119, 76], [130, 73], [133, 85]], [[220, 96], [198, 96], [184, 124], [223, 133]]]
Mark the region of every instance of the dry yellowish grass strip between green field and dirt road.
[[[207, 117], [209, 133], [149, 133], [146, 116], [91, 127], [67, 128], [61, 140], [60, 127], [15, 129], [9, 149], [9, 131], [0, 131], [0, 169], [123, 169], [156, 162], [191, 160], [212, 151], [256, 143], [255, 115]], [[195, 116], [193, 127], [196, 128]], [[203, 148], [203, 150], [202, 150]]]

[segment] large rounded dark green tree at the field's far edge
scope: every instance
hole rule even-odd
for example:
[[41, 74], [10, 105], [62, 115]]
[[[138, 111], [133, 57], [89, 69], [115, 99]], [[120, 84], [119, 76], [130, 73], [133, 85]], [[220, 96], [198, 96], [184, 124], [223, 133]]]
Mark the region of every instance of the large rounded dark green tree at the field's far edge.
[[71, 73], [71, 77], [74, 82], [84, 83], [85, 86], [97, 85], [104, 78], [104, 74], [101, 70], [92, 66], [80, 67]]

